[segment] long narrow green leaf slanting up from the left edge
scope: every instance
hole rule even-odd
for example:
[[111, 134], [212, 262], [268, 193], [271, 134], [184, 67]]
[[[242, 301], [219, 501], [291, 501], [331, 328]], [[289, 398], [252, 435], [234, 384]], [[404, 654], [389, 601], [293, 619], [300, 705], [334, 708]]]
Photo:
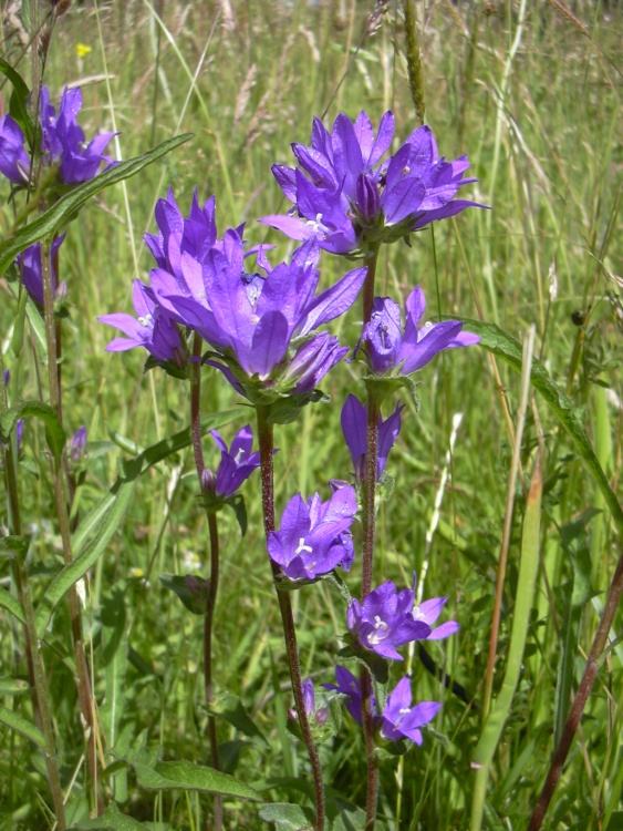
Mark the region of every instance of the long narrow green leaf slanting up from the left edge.
[[172, 150], [179, 147], [181, 144], [193, 137], [191, 133], [175, 136], [163, 142], [148, 153], [144, 153], [135, 158], [104, 171], [90, 182], [85, 182], [77, 187], [73, 187], [69, 193], [52, 205], [44, 214], [41, 214], [30, 225], [15, 232], [15, 234], [0, 244], [0, 276], [4, 274], [13, 259], [20, 252], [28, 248], [29, 245], [38, 243], [40, 239], [52, 239], [62, 226], [71, 219], [74, 214], [95, 194], [98, 194], [105, 187], [116, 185], [118, 182], [131, 178], [139, 173], [144, 167], [157, 162]]

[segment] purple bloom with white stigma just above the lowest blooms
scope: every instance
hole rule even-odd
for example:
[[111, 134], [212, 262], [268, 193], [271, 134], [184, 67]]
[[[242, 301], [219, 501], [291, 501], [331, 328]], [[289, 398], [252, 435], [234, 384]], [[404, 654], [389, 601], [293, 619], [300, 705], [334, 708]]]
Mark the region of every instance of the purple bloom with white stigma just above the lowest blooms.
[[413, 605], [409, 588], [396, 592], [395, 584], [387, 581], [371, 592], [363, 605], [353, 598], [346, 615], [349, 632], [365, 649], [402, 660], [396, 647], [430, 635], [427, 623], [413, 618]]

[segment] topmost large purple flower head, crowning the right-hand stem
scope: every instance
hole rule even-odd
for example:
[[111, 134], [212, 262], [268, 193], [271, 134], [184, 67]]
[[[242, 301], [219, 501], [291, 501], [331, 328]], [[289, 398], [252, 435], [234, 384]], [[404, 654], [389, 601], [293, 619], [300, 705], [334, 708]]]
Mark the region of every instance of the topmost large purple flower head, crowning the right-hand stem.
[[266, 216], [292, 239], [318, 239], [333, 254], [362, 255], [392, 243], [435, 219], [467, 207], [486, 207], [455, 199], [467, 156], [439, 157], [428, 126], [417, 127], [393, 155], [384, 158], [394, 136], [394, 115], [386, 112], [374, 135], [361, 112], [354, 123], [340, 113], [331, 133], [313, 120], [311, 146], [292, 144], [299, 167], [276, 164], [272, 173], [293, 207], [288, 216]]

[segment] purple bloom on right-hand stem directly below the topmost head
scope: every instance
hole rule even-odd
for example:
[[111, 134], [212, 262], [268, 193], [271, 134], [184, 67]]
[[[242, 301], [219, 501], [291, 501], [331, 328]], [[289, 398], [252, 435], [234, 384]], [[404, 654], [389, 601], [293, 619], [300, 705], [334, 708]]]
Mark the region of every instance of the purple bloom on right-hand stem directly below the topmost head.
[[401, 331], [401, 310], [388, 297], [375, 297], [372, 317], [366, 324], [362, 340], [367, 342], [372, 370], [385, 375], [399, 369], [408, 376], [422, 369], [444, 349], [478, 343], [478, 335], [461, 331], [459, 320], [444, 320], [440, 324], [418, 324], [426, 308], [424, 291], [416, 286], [406, 299], [406, 324]]

